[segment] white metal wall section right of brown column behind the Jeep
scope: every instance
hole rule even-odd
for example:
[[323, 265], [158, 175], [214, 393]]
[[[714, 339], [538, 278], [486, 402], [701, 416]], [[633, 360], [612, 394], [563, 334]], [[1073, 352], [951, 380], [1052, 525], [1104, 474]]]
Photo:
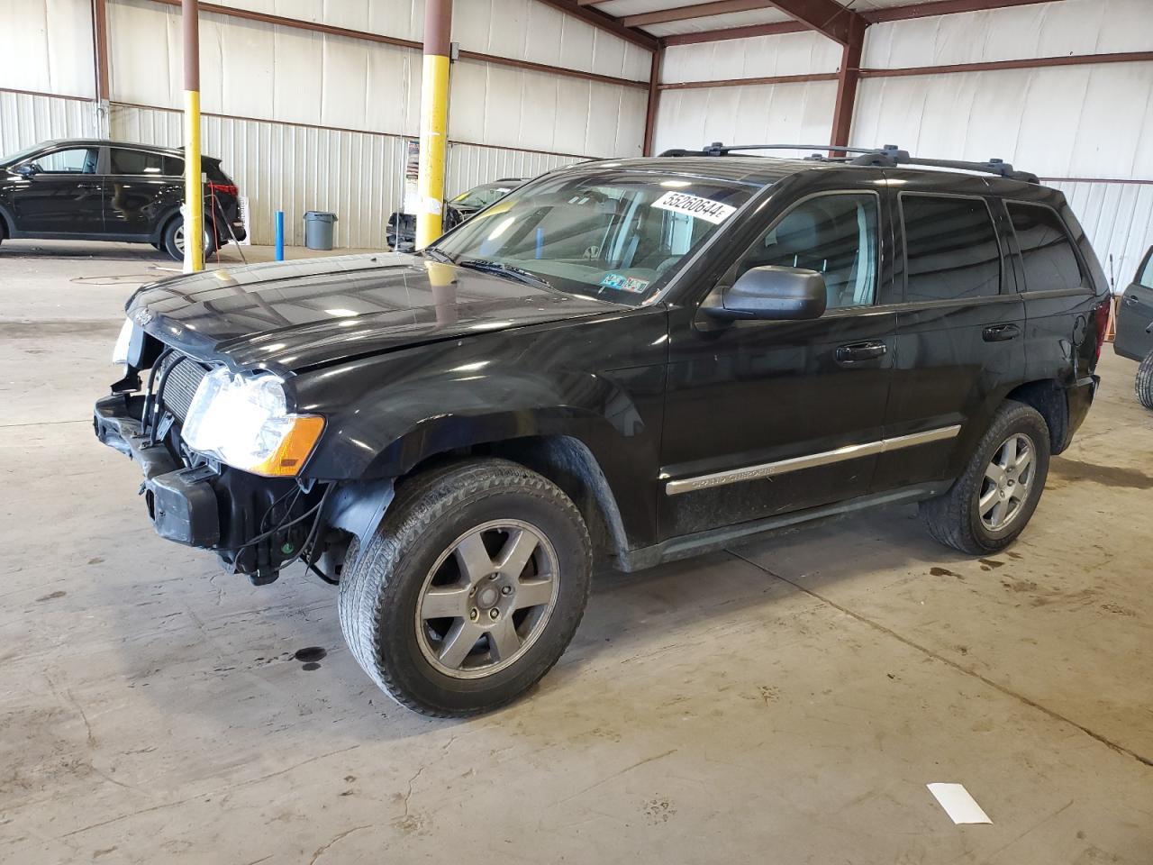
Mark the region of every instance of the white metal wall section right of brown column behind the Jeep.
[[[1148, 51], [1148, 0], [1063, 0], [874, 24], [864, 66], [910, 68]], [[1153, 62], [866, 78], [850, 143], [1000, 157], [1065, 191], [1124, 286], [1153, 243]]]

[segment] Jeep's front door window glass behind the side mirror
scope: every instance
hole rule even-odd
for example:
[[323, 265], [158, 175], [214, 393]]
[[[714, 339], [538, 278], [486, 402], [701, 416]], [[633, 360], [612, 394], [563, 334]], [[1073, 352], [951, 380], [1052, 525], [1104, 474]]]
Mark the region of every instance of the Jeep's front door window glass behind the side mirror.
[[745, 250], [734, 276], [767, 265], [815, 270], [824, 277], [829, 309], [872, 306], [877, 279], [876, 195], [838, 193], [801, 202]]

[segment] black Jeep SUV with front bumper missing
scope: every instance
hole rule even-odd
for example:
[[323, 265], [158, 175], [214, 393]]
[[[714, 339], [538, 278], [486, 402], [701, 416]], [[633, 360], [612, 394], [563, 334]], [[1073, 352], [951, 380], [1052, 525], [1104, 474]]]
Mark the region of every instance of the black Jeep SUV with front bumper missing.
[[338, 582], [353, 655], [430, 715], [541, 678], [594, 561], [894, 502], [959, 550], [1010, 543], [1106, 328], [1061, 193], [713, 152], [552, 172], [420, 256], [145, 286], [97, 435], [160, 535]]

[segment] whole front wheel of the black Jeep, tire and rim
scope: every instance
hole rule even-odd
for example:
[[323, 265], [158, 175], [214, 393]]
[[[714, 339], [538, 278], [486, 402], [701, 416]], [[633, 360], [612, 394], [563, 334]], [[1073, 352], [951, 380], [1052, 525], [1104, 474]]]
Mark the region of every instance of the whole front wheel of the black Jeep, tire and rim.
[[593, 570], [572, 501], [499, 459], [402, 483], [354, 557], [338, 602], [353, 657], [397, 702], [437, 717], [489, 712], [544, 676], [580, 624]]

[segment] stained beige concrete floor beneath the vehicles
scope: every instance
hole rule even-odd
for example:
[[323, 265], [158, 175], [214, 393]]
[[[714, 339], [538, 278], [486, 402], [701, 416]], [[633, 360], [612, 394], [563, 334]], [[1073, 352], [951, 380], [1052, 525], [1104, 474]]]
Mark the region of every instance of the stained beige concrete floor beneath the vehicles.
[[159, 540], [92, 437], [144, 250], [0, 249], [0, 862], [1153, 863], [1153, 413], [1111, 349], [1005, 554], [896, 507], [605, 574], [527, 699], [430, 721], [329, 587]]

